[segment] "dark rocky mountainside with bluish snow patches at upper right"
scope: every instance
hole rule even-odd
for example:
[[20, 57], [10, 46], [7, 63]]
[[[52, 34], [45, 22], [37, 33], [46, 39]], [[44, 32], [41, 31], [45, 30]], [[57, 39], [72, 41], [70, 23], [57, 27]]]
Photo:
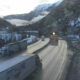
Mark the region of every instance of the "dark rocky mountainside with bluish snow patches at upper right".
[[66, 34], [80, 34], [80, 3], [79, 0], [63, 0], [55, 9], [39, 22], [30, 25], [31, 28], [44, 32], [62, 32]]

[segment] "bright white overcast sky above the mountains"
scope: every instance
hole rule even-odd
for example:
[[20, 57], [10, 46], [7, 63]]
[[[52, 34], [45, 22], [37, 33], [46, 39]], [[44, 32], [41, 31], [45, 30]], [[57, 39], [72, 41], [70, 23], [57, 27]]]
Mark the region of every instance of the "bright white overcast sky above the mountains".
[[59, 0], [0, 0], [0, 16], [29, 13], [39, 4], [57, 1]]

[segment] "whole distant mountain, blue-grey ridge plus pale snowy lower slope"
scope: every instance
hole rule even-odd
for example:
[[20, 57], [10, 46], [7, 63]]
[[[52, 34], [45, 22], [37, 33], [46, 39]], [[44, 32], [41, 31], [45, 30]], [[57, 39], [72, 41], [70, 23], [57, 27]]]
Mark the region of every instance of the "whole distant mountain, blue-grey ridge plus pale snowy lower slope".
[[8, 22], [16, 26], [30, 25], [43, 19], [45, 16], [49, 14], [52, 6], [55, 9], [55, 7], [57, 7], [58, 4], [59, 3], [41, 4], [37, 6], [35, 10], [31, 11], [29, 14], [9, 15], [9, 16], [5, 16], [4, 19], [6, 19]]

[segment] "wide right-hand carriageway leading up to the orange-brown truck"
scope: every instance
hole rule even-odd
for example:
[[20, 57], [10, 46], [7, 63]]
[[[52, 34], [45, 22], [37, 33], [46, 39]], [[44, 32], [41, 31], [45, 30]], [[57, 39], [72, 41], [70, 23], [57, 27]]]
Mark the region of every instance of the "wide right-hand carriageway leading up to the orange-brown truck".
[[67, 59], [67, 43], [59, 40], [58, 45], [49, 45], [38, 53], [42, 59], [42, 70], [26, 80], [59, 80]]

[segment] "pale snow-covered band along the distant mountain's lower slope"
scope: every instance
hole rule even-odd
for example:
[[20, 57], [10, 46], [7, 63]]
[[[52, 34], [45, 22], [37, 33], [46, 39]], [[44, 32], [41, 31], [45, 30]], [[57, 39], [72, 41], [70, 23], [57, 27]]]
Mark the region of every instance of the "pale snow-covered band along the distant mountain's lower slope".
[[32, 20], [27, 21], [27, 20], [22, 20], [22, 19], [6, 19], [9, 23], [11, 23], [12, 25], [16, 25], [18, 26], [25, 26], [25, 25], [29, 25], [29, 24], [33, 24], [38, 22], [39, 20], [43, 19], [46, 15], [48, 15], [49, 12], [44, 11], [42, 12], [40, 15], [34, 17]]

